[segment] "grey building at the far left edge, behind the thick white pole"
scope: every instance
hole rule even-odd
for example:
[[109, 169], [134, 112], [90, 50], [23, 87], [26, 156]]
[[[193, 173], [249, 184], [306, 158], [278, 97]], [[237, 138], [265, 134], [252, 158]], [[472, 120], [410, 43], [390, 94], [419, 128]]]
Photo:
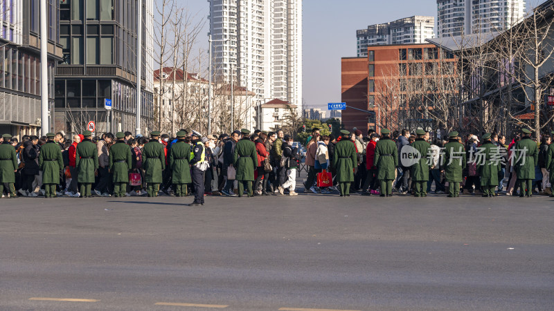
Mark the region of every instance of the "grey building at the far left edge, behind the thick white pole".
[[[58, 46], [57, 8], [48, 0], [48, 101], [54, 103], [54, 73], [62, 60]], [[40, 129], [40, 23], [39, 1], [0, 1], [0, 133], [36, 135]], [[52, 124], [52, 123], [50, 123]], [[46, 133], [41, 133], [42, 135]]]

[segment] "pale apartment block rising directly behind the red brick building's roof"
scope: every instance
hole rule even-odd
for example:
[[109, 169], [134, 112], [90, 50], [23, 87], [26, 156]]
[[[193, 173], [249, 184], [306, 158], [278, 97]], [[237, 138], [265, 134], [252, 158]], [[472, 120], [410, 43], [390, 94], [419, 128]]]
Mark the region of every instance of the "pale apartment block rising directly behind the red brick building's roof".
[[434, 37], [434, 27], [434, 17], [416, 15], [356, 30], [357, 56], [368, 56], [368, 46], [425, 43], [425, 39]]

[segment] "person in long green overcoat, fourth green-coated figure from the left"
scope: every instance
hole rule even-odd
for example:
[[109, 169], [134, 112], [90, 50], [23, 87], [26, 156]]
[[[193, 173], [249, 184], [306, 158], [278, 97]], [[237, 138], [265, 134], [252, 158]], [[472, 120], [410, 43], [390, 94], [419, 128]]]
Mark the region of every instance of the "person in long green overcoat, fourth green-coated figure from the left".
[[129, 183], [129, 171], [133, 165], [131, 148], [125, 144], [125, 133], [116, 133], [117, 142], [109, 149], [109, 171], [114, 182], [114, 196], [123, 198]]

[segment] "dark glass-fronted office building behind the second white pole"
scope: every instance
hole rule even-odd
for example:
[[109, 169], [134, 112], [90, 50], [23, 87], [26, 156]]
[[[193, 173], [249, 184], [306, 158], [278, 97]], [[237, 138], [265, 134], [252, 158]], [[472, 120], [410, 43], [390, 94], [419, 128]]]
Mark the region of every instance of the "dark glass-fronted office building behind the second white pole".
[[[64, 59], [55, 77], [57, 131], [133, 131], [136, 120], [136, 50], [139, 3], [143, 6], [141, 129], [151, 130], [153, 0], [66, 0], [60, 2]], [[111, 100], [107, 113], [105, 100]]]

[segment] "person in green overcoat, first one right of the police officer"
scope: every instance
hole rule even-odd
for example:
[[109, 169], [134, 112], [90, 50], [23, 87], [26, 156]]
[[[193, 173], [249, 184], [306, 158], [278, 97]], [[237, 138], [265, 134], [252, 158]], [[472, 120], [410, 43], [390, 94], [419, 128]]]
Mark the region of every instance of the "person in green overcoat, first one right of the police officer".
[[237, 169], [238, 196], [244, 194], [244, 185], [247, 187], [249, 198], [253, 196], [252, 183], [254, 182], [254, 168], [258, 167], [258, 153], [256, 153], [256, 144], [249, 138], [250, 131], [241, 129], [242, 140], [239, 140], [235, 146], [235, 155], [233, 162]]

